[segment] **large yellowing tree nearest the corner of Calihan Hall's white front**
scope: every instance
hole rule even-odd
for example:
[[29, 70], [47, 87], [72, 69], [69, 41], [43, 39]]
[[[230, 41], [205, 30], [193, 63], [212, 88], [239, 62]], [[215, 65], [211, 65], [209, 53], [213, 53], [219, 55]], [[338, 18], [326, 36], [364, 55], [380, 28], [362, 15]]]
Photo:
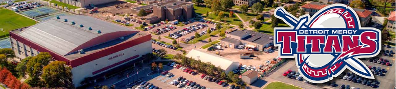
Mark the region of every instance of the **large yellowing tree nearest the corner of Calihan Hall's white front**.
[[49, 63], [44, 67], [41, 78], [43, 79], [44, 84], [48, 88], [74, 88], [71, 80], [71, 68], [66, 65], [66, 62], [55, 61]]

